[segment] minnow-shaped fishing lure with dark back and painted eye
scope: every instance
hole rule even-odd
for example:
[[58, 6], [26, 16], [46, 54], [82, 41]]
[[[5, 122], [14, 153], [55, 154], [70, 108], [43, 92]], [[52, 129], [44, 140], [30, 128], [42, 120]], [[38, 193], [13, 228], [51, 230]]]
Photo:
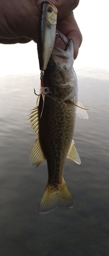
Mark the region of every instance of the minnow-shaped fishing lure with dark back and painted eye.
[[39, 66], [41, 71], [45, 71], [55, 45], [57, 13], [58, 10], [52, 3], [48, 1], [41, 3], [37, 40]]

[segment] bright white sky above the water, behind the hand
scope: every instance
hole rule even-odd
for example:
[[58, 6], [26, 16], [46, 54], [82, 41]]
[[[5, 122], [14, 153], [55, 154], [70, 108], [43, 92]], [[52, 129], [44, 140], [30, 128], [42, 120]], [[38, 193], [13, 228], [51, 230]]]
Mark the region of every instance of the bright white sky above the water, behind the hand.
[[[74, 16], [83, 35], [74, 69], [109, 69], [108, 0], [80, 0]], [[37, 73], [37, 45], [0, 45], [0, 75]]]

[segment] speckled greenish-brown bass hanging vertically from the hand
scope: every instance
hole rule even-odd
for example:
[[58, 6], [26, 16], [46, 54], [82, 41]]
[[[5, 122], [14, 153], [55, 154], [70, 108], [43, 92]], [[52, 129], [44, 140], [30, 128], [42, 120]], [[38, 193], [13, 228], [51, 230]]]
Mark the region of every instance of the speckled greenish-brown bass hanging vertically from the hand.
[[[71, 208], [73, 198], [63, 178], [66, 158], [80, 164], [73, 139], [77, 103], [77, 78], [73, 69], [73, 43], [65, 52], [54, 48], [44, 74], [44, 85], [48, 94], [40, 96], [39, 105], [31, 110], [30, 123], [37, 139], [30, 152], [29, 160], [37, 167], [45, 159], [48, 166], [48, 182], [44, 190], [39, 213], [45, 214], [58, 206]], [[42, 112], [43, 108], [43, 112]], [[79, 108], [79, 110], [80, 110]], [[87, 118], [81, 109], [83, 118]]]

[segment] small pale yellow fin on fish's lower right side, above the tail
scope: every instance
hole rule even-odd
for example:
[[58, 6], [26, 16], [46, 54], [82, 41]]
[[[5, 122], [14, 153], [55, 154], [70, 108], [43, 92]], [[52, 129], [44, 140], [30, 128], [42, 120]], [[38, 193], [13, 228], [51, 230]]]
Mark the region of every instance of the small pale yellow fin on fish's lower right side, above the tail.
[[70, 145], [70, 149], [69, 149], [67, 158], [71, 159], [72, 161], [74, 161], [77, 164], [81, 163], [79, 155], [78, 155], [78, 153], [76, 151], [76, 148], [74, 146], [74, 140], [72, 140], [72, 143]]

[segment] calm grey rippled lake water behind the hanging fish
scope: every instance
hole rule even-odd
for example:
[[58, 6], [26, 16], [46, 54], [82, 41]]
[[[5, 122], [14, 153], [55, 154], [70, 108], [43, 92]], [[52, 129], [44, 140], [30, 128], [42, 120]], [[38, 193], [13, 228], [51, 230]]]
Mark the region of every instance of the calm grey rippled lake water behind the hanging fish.
[[1, 256], [109, 255], [109, 75], [78, 70], [78, 100], [90, 111], [76, 117], [74, 141], [81, 164], [67, 159], [64, 179], [74, 208], [38, 214], [47, 183], [46, 161], [28, 162], [36, 139], [29, 110], [36, 106], [39, 75], [1, 77]]

